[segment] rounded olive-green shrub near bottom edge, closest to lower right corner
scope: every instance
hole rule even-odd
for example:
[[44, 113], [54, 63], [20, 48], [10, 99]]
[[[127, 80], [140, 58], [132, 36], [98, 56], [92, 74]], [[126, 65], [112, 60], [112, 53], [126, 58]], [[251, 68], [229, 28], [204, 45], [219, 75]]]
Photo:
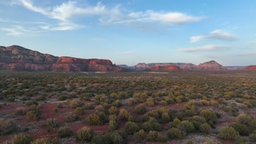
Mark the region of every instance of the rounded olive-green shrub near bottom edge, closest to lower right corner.
[[235, 137], [239, 136], [239, 133], [232, 127], [222, 127], [218, 136], [224, 140], [235, 140]]

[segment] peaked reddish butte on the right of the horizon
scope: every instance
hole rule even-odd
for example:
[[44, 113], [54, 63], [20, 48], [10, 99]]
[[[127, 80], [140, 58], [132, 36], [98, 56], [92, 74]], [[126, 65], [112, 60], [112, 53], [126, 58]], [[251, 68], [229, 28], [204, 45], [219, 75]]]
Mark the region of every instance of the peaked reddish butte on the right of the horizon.
[[219, 63], [215, 61], [205, 62], [197, 65], [198, 69], [200, 70], [226, 70], [223, 65], [220, 65]]

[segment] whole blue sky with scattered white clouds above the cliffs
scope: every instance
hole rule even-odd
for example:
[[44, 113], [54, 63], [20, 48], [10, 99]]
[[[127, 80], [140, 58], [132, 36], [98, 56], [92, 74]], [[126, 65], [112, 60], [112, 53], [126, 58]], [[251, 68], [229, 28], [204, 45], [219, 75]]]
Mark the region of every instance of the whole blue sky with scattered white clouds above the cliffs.
[[0, 0], [0, 45], [115, 64], [256, 64], [256, 1]]

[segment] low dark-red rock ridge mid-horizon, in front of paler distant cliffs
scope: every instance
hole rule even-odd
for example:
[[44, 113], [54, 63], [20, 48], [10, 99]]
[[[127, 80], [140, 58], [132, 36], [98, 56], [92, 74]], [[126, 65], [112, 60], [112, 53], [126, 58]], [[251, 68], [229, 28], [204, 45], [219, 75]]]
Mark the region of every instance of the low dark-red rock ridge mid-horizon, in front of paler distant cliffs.
[[153, 66], [146, 69], [146, 71], [155, 71], [155, 72], [170, 72], [170, 71], [179, 71], [181, 70], [177, 65], [165, 65], [165, 66]]

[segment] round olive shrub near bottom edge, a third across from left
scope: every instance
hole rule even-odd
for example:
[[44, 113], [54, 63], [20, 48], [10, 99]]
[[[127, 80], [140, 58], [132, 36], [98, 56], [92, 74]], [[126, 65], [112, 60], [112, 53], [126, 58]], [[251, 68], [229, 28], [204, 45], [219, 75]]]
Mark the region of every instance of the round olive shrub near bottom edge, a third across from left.
[[83, 127], [77, 131], [77, 139], [81, 142], [90, 142], [94, 136], [94, 131], [88, 127]]

